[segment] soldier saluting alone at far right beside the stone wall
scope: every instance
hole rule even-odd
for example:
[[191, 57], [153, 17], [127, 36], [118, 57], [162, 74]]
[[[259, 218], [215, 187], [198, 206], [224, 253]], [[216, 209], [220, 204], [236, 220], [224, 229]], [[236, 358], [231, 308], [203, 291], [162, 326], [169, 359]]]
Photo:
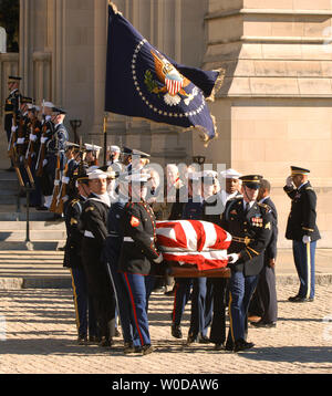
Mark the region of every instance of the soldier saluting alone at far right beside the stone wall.
[[314, 299], [314, 253], [321, 238], [317, 226], [317, 195], [309, 181], [309, 169], [291, 166], [286, 194], [292, 200], [286, 238], [293, 241], [293, 257], [300, 280], [298, 294], [291, 302], [311, 302]]

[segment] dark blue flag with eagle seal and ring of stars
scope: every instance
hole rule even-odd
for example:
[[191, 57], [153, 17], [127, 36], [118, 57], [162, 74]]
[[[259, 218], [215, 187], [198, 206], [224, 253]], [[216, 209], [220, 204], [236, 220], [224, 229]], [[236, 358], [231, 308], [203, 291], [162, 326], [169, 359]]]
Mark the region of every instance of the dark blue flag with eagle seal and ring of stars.
[[160, 53], [110, 3], [106, 112], [195, 128], [209, 142], [217, 132], [206, 100], [222, 80], [222, 71], [179, 65]]

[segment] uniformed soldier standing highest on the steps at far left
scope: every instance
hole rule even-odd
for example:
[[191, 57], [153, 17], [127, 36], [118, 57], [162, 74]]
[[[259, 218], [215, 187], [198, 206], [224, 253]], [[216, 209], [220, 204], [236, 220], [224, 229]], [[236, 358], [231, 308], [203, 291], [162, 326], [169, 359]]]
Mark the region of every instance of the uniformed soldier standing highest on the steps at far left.
[[[4, 103], [4, 131], [8, 143], [10, 143], [12, 134], [15, 134], [17, 132], [15, 117], [19, 116], [20, 102], [22, 97], [19, 91], [21, 80], [21, 77], [14, 75], [10, 75], [8, 77], [9, 96]], [[7, 170], [12, 171], [14, 168], [11, 165], [11, 167]]]

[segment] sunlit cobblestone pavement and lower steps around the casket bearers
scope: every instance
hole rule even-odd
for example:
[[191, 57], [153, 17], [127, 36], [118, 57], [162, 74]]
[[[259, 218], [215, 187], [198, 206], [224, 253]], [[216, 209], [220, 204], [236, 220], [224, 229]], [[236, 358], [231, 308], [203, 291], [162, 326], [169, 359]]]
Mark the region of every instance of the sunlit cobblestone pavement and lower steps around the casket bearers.
[[[7, 277], [2, 279], [22, 279], [38, 269], [39, 277], [45, 273], [53, 280], [56, 278], [54, 273], [68, 277], [68, 270], [61, 269], [61, 252], [52, 253], [58, 260], [53, 258], [53, 264], [45, 258], [43, 263], [42, 257], [33, 263], [35, 257], [31, 258], [31, 252], [24, 253], [28, 263], [20, 267], [18, 262], [22, 257], [18, 260], [15, 254], [19, 253], [11, 252], [12, 261], [17, 262], [11, 268], [8, 257], [3, 264], [4, 254], [10, 253], [1, 252], [0, 270]], [[164, 294], [153, 294], [149, 303], [151, 334], [156, 351], [147, 356], [125, 356], [121, 338], [116, 338], [112, 350], [76, 344], [71, 289], [35, 288], [35, 284], [4, 288], [0, 290], [0, 374], [331, 374], [330, 253], [319, 252], [321, 278], [317, 298], [314, 302], [303, 304], [287, 300], [297, 293], [298, 283], [289, 252], [279, 254], [278, 325], [268, 330], [250, 327], [248, 340], [256, 347], [239, 354], [215, 352], [210, 344], [188, 347], [184, 345], [185, 338], [172, 337], [173, 299]], [[283, 260], [288, 264], [282, 265]], [[183, 321], [185, 336], [188, 324], [189, 305]]]

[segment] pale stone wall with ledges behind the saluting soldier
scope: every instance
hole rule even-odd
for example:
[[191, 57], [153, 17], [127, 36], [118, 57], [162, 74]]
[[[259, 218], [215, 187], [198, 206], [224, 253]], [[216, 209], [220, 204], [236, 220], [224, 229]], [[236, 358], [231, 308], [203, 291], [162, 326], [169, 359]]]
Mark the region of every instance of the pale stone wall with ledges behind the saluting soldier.
[[227, 73], [211, 106], [219, 138], [205, 153], [271, 181], [282, 247], [290, 165], [311, 169], [320, 246], [331, 247], [331, 17], [328, 0], [210, 0], [206, 17], [205, 67]]

